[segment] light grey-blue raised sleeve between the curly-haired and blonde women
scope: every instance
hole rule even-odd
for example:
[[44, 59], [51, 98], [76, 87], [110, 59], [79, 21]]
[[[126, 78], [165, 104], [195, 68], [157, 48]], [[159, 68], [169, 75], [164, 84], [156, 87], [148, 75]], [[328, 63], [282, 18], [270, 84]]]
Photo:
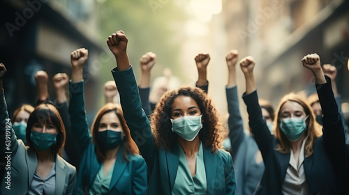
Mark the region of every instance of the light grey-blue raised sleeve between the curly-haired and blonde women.
[[244, 139], [244, 124], [239, 109], [239, 99], [237, 98], [237, 86], [225, 88], [228, 102], [228, 126], [229, 139], [232, 146], [232, 159], [235, 159], [240, 143]]

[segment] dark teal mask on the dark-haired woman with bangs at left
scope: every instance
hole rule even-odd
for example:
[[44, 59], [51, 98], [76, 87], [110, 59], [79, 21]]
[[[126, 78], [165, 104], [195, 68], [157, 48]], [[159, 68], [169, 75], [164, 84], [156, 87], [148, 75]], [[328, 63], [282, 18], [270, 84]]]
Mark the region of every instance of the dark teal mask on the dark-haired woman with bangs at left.
[[57, 143], [57, 134], [45, 134], [31, 130], [31, 142], [37, 150], [48, 150]]

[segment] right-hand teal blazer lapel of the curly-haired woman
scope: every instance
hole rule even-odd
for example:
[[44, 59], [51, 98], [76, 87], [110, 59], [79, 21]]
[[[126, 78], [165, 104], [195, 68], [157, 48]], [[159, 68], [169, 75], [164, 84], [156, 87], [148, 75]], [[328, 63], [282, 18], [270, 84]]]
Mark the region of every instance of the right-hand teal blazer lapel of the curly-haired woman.
[[[216, 193], [214, 193], [214, 189], [210, 189], [210, 188], [211, 188], [211, 184], [214, 184], [214, 180], [216, 179], [216, 172], [217, 172], [217, 167], [218, 167], [217, 166], [217, 155], [213, 154], [211, 149], [206, 148], [203, 145], [202, 145], [202, 149], [204, 152], [207, 192], [212, 192], [209, 194], [216, 194]], [[223, 166], [223, 164], [221, 166]]]

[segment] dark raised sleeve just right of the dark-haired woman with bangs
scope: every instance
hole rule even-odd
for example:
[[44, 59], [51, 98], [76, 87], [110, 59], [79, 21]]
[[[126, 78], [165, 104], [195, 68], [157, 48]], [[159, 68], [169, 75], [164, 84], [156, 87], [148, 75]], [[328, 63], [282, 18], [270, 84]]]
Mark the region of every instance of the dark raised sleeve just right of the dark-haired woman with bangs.
[[56, 104], [56, 108], [61, 115], [61, 118], [64, 123], [64, 128], [66, 129], [66, 144], [64, 146], [64, 150], [66, 151], [70, 164], [74, 166], [79, 166], [80, 161], [80, 153], [77, 151], [77, 146], [75, 146], [75, 139], [73, 137], [73, 133], [70, 130], [70, 120], [68, 113], [68, 104], [67, 102], [63, 102], [61, 104]]

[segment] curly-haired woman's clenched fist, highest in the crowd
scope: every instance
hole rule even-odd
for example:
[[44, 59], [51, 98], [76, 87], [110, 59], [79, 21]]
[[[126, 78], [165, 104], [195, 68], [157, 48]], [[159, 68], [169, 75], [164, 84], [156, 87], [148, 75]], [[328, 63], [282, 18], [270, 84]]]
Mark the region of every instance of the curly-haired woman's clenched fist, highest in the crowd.
[[107, 45], [110, 49], [110, 52], [112, 52], [114, 56], [118, 56], [119, 54], [126, 54], [127, 42], [128, 39], [125, 36], [124, 31], [117, 31], [107, 39]]

